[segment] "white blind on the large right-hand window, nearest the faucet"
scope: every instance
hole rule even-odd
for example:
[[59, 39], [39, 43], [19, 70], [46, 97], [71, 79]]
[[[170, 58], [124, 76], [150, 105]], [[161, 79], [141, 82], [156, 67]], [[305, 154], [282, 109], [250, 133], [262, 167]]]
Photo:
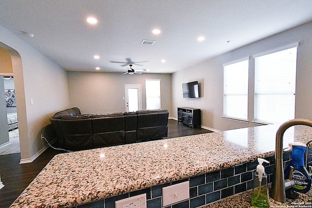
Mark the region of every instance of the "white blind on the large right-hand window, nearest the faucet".
[[297, 47], [254, 59], [254, 121], [294, 118]]

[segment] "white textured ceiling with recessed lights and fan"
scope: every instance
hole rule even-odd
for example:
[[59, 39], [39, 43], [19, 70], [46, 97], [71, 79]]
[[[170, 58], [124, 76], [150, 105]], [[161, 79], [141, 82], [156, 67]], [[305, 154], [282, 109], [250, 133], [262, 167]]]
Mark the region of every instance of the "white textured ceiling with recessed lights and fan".
[[111, 61], [131, 58], [147, 61], [134, 69], [173, 73], [311, 21], [312, 0], [0, 0], [0, 14], [0, 25], [66, 70], [126, 71]]

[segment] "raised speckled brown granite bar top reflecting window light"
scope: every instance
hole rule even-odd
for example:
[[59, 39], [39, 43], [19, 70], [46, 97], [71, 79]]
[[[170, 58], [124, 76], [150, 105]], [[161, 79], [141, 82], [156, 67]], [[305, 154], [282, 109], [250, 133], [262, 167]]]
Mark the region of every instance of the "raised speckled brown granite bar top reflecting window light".
[[[72, 207], [274, 155], [279, 125], [213, 132], [56, 155], [11, 205]], [[306, 143], [312, 128], [284, 134]]]

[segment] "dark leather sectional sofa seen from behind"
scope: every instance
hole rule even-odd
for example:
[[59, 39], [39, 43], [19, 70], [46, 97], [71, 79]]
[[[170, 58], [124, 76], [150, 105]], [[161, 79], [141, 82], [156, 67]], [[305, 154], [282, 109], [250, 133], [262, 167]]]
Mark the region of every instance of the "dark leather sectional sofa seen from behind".
[[50, 121], [58, 148], [79, 151], [168, 137], [166, 109], [81, 114], [77, 107], [55, 113]]

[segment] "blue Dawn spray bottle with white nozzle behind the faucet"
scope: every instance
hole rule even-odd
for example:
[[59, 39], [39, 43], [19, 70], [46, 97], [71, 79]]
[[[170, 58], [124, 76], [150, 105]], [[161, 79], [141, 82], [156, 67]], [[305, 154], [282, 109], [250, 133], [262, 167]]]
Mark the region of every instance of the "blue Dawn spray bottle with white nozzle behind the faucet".
[[292, 190], [301, 193], [307, 193], [311, 188], [311, 176], [304, 166], [303, 160], [306, 149], [307, 145], [301, 142], [291, 142], [289, 148], [285, 150], [292, 150], [290, 165], [285, 169], [285, 179], [290, 178], [290, 172], [293, 168], [291, 180], [294, 181], [294, 186]]

